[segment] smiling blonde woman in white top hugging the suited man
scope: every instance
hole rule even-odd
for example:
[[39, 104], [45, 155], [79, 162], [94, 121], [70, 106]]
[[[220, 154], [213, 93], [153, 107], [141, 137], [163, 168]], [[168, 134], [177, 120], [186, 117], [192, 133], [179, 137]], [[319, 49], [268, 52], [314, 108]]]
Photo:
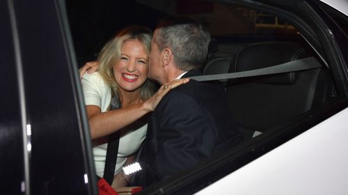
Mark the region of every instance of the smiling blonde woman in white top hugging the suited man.
[[[151, 38], [152, 32], [147, 28], [123, 29], [100, 51], [99, 71], [84, 74], [81, 80], [93, 139], [95, 169], [100, 177], [104, 174], [106, 136], [120, 130], [113, 187], [126, 185], [118, 173], [125, 164], [132, 163], [134, 153], [145, 139], [147, 120], [144, 116], [155, 109], [169, 90], [189, 81], [175, 80], [162, 85], [154, 94], [148, 80]], [[110, 110], [113, 97], [120, 109]]]

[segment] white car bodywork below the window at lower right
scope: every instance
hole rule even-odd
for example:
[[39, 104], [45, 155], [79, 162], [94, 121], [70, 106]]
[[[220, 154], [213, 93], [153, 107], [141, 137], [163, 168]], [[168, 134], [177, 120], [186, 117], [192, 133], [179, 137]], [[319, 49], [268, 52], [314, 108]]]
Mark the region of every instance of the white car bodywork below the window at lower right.
[[348, 194], [347, 117], [348, 108], [197, 194]]

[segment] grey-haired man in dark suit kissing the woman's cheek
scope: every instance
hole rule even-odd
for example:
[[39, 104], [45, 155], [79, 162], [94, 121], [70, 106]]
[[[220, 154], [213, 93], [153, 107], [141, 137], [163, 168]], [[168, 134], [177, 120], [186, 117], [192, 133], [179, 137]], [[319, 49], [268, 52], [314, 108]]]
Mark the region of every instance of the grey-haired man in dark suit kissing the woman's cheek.
[[[197, 22], [159, 24], [151, 42], [149, 77], [161, 85], [200, 75], [210, 35]], [[242, 139], [232, 124], [226, 94], [217, 82], [189, 83], [164, 96], [150, 117], [136, 185], [146, 187], [212, 158]]]

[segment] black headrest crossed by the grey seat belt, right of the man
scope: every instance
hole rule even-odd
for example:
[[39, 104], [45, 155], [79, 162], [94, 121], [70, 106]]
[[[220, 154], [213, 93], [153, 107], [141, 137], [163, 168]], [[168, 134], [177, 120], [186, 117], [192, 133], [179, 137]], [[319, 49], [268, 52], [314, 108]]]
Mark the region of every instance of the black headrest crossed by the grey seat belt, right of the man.
[[[239, 51], [230, 72], [247, 71], [280, 65], [292, 60], [305, 58], [308, 54], [301, 44], [293, 42], [262, 42], [250, 44]], [[266, 76], [257, 80], [259, 83], [275, 85], [291, 85], [299, 77], [298, 72]]]

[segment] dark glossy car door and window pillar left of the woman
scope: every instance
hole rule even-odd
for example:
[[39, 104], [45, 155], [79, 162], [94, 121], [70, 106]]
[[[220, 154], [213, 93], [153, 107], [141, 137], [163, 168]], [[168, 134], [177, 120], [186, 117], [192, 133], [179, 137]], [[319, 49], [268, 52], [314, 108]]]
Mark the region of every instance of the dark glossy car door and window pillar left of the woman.
[[97, 194], [64, 1], [0, 2], [1, 194]]

